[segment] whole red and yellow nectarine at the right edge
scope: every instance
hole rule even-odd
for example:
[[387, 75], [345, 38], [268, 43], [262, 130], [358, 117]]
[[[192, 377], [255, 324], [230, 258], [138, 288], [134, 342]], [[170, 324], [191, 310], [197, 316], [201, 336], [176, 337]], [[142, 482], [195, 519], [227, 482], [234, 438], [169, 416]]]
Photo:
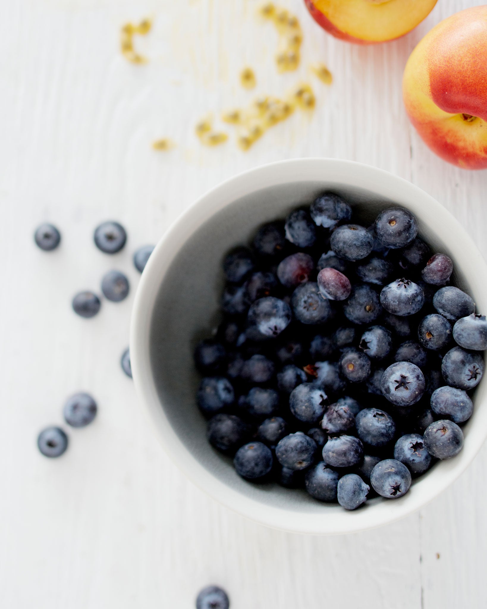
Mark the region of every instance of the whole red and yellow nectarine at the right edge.
[[433, 152], [464, 169], [487, 169], [487, 5], [434, 27], [408, 59], [402, 89]]

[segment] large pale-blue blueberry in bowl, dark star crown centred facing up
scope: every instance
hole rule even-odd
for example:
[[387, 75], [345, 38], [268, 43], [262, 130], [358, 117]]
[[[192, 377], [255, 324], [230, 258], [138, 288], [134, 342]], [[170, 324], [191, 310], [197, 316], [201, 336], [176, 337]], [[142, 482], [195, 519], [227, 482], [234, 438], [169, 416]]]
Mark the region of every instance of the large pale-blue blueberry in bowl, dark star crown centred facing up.
[[394, 406], [411, 406], [421, 400], [425, 388], [424, 376], [415, 364], [396, 362], [385, 370], [380, 387]]

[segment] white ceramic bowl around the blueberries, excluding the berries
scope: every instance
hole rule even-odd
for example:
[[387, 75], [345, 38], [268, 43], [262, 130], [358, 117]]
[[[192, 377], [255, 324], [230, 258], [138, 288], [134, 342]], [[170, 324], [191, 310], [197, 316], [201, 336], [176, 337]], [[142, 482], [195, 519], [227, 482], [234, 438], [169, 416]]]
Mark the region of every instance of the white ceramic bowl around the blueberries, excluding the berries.
[[[440, 203], [409, 182], [349, 161], [300, 159], [273, 163], [225, 181], [204, 195], [167, 230], [142, 274], [133, 308], [130, 354], [139, 398], [164, 448], [183, 472], [235, 512], [270, 527], [301, 533], [347, 533], [390, 523], [441, 493], [466, 468], [487, 433], [487, 382], [477, 387], [474, 415], [464, 426], [464, 448], [414, 482], [401, 499], [372, 499], [347, 512], [305, 491], [244, 481], [231, 460], [209, 446], [195, 405], [200, 376], [195, 344], [217, 320], [223, 255], [247, 243], [263, 222], [332, 190], [372, 220], [391, 203], [410, 209], [419, 234], [454, 261], [454, 281], [487, 311], [487, 267], [472, 239]], [[482, 281], [480, 281], [482, 279]]]

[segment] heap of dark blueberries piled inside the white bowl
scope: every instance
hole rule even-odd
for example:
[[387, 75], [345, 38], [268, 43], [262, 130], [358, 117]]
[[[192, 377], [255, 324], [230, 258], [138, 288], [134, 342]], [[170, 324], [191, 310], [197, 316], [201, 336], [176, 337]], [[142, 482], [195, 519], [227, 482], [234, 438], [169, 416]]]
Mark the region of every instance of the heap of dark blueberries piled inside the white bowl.
[[461, 450], [487, 347], [412, 213], [351, 217], [326, 192], [229, 252], [223, 321], [195, 350], [208, 440], [237, 473], [348, 510]]

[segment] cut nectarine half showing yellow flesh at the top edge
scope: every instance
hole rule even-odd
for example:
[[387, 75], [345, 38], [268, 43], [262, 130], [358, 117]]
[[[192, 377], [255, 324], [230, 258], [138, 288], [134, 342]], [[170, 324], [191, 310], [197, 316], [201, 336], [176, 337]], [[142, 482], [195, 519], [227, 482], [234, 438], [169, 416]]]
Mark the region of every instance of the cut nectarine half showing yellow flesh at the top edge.
[[304, 0], [323, 29], [356, 44], [376, 44], [404, 36], [429, 15], [436, 1]]

